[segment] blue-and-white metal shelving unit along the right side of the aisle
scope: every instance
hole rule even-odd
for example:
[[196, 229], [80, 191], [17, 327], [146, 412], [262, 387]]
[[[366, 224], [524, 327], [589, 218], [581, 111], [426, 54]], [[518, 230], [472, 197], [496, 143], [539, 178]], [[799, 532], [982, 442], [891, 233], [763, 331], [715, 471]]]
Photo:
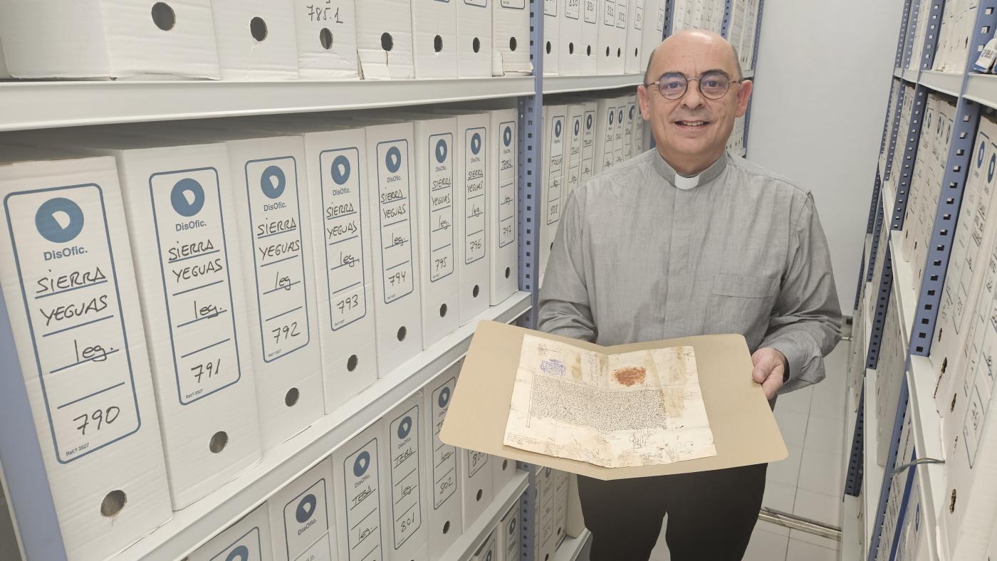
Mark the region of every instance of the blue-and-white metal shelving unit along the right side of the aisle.
[[[958, 6], [956, 5], [956, 7]], [[917, 11], [923, 9], [930, 10], [929, 14], [920, 20], [926, 26], [924, 46], [920, 53], [914, 53], [913, 35], [918, 30], [913, 26], [913, 22], [918, 22]], [[865, 261], [874, 262], [877, 258], [889, 259], [890, 256], [893, 263], [898, 266], [892, 267], [891, 274], [884, 274], [882, 278], [866, 278], [866, 281], [871, 281], [870, 284], [863, 286], [861, 281], [858, 284], [858, 295], [861, 294], [863, 288], [866, 295], [881, 297], [883, 292], [892, 295], [893, 305], [888, 307], [887, 313], [897, 314], [902, 335], [901, 344], [907, 351], [906, 372], [902, 382], [898, 411], [895, 420], [893, 420], [893, 440], [886, 461], [886, 465], [890, 466], [893, 465], [896, 457], [898, 430], [905, 421], [908, 402], [917, 456], [920, 458], [943, 457], [941, 422], [935, 411], [932, 397], [935, 386], [935, 369], [928, 354], [935, 333], [937, 310], [948, 267], [951, 237], [958, 220], [962, 189], [969, 167], [968, 158], [976, 139], [981, 107], [997, 108], [997, 77], [974, 75], [970, 71], [970, 65], [975, 61], [976, 54], [991, 38], [995, 25], [997, 25], [997, 0], [981, 1], [979, 7], [973, 12], [976, 21], [972, 28], [973, 32], [969, 41], [964, 71], [960, 73], [931, 70], [937, 50], [938, 31], [945, 9], [946, 2], [944, 0], [928, 0], [923, 6], [919, 0], [905, 0], [904, 20], [897, 42], [893, 78], [896, 79], [895, 87], [902, 88], [905, 84], [914, 86], [914, 114], [911, 116], [908, 129], [899, 131], [896, 124], [899, 122], [897, 118], [903, 105], [904, 92], [901, 90], [896, 106], [890, 107], [887, 111], [886, 123], [892, 122], [894, 129], [883, 132], [881, 152], [886, 155], [887, 159], [885, 169], [876, 170], [867, 229], [867, 233], [873, 236], [873, 243], [870, 244], [868, 240], [866, 241], [865, 258], [863, 259], [863, 267], [868, 267], [868, 270], [871, 270], [871, 265], [864, 263]], [[908, 22], [910, 23], [908, 24]], [[925, 260], [923, 280], [917, 285], [911, 270], [905, 264], [908, 260], [903, 254], [903, 244], [900, 238], [894, 234], [903, 228], [907, 193], [913, 178], [921, 134], [921, 117], [923, 117], [925, 102], [929, 94], [942, 94], [955, 98], [957, 104], [952, 142], [946, 156], [944, 176], [941, 179], [941, 195], [937, 201], [931, 238], [927, 246], [929, 251]], [[893, 115], [892, 119], [889, 119], [890, 114]], [[900, 150], [899, 153], [902, 154], [902, 157], [898, 159], [899, 169], [892, 167], [894, 154], [897, 150]], [[883, 171], [882, 175], [880, 175], [880, 171]], [[872, 231], [873, 223], [877, 226], [879, 223], [878, 220], [873, 220], [873, 216], [877, 212], [883, 212], [889, 217], [888, 227], [890, 228], [889, 243], [886, 248], [879, 248], [878, 255], [874, 243], [878, 230]], [[856, 296], [856, 306], [857, 302], [858, 296]], [[870, 359], [874, 359], [877, 352], [878, 347], [873, 336], [869, 339], [868, 356]], [[874, 364], [874, 360], [871, 363]], [[875, 370], [865, 371], [866, 411], [856, 421], [863, 423], [864, 429], [854, 432], [856, 438], [860, 437], [863, 440], [852, 442], [852, 447], [856, 444], [864, 447], [866, 452], [864, 461], [858, 467], [853, 464], [849, 465], [846, 479], [846, 481], [856, 477], [864, 479], [862, 487], [866, 499], [864, 514], [866, 529], [862, 543], [864, 544], [864, 556], [869, 561], [876, 558], [890, 485], [897, 484], [897, 482], [909, 485], [909, 481], [912, 480], [908, 477], [884, 478], [883, 468], [878, 466], [873, 459], [875, 455], [869, 456], [868, 451], [874, 450], [876, 447], [875, 438], [877, 435], [877, 427], [874, 426], [876, 420], [868, 410], [869, 392], [870, 390], [874, 392], [875, 376]], [[885, 433], [889, 433], [889, 431]], [[946, 552], [937, 542], [936, 532], [938, 507], [944, 501], [945, 466], [937, 463], [917, 465], [914, 476], [920, 487], [921, 512], [925, 515], [927, 526], [921, 531], [926, 533], [929, 544], [928, 558], [947, 561]], [[905, 494], [908, 490], [908, 488], [904, 489]], [[901, 506], [901, 523], [906, 515], [904, 512], [906, 504], [907, 501], [904, 501]], [[842, 530], [847, 534], [849, 526], [844, 524]], [[842, 539], [842, 543], [847, 543], [847, 541]], [[890, 558], [895, 553], [895, 550], [891, 551]]]

